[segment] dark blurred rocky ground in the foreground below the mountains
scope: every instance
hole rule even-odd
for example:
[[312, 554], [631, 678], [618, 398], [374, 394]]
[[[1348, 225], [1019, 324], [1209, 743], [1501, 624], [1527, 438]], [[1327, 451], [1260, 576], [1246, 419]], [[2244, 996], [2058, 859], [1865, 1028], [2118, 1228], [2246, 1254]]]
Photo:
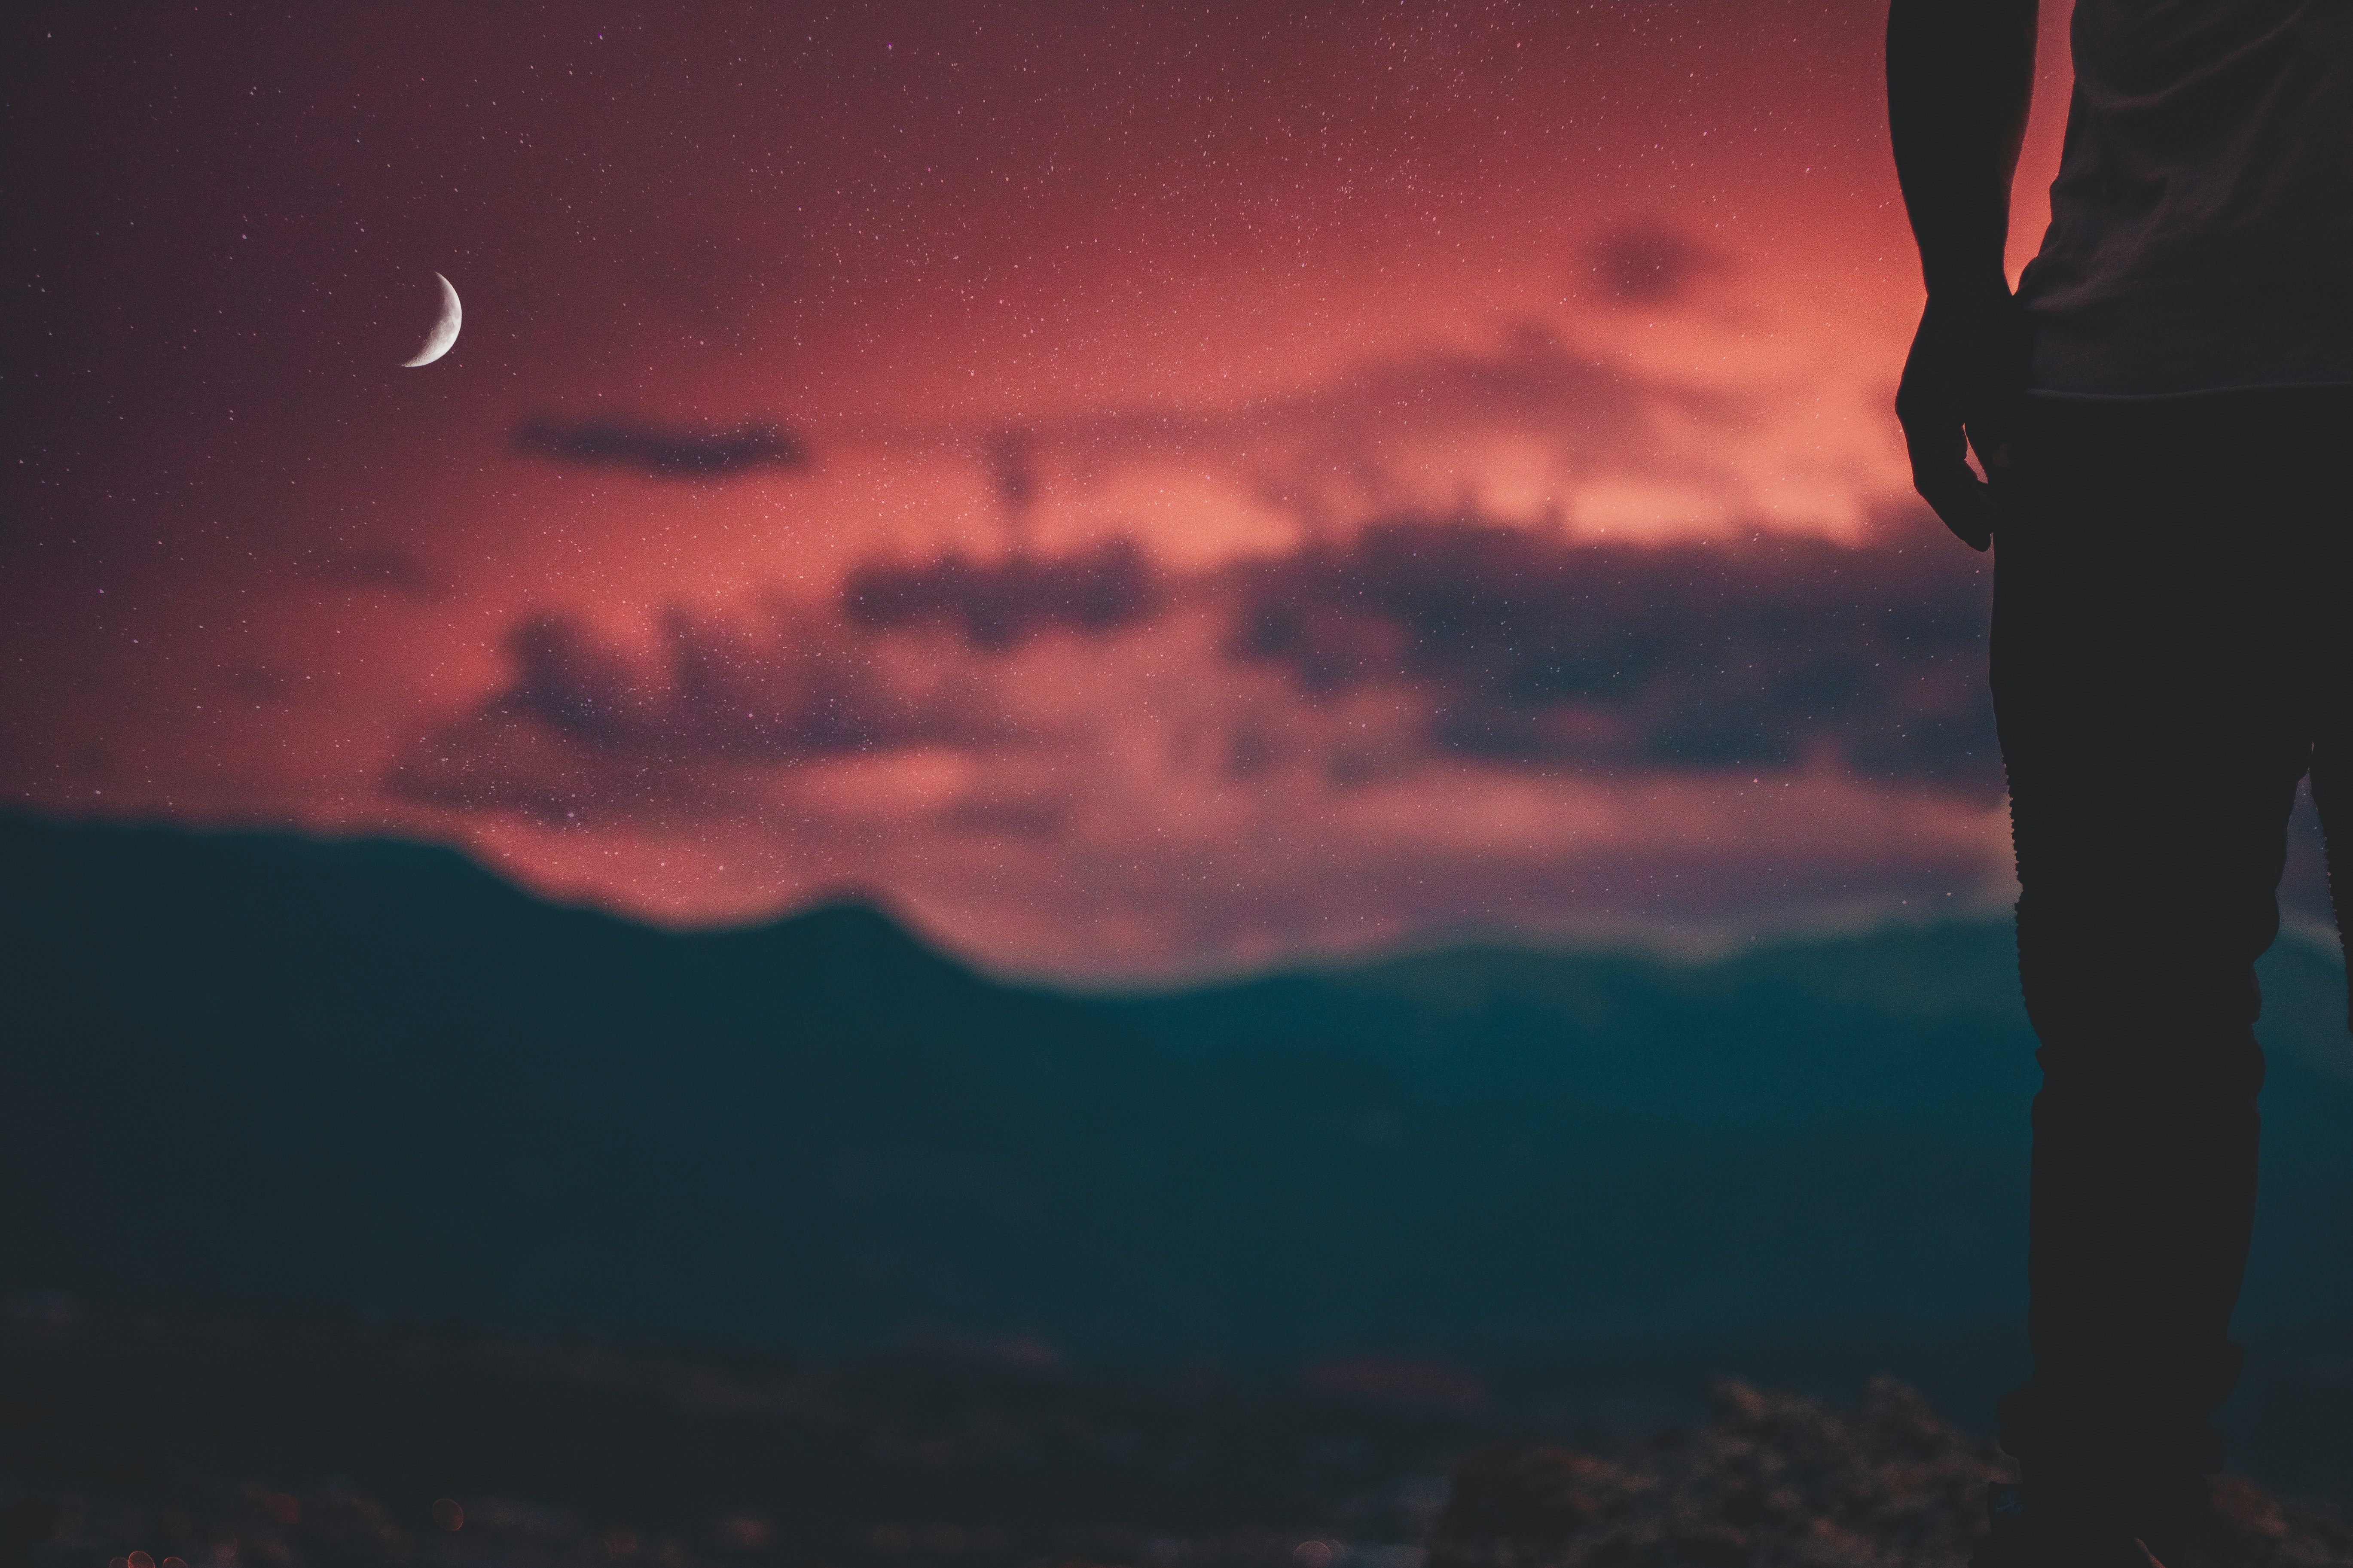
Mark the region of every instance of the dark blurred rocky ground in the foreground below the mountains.
[[[1701, 1420], [1633, 1427], [1377, 1361], [814, 1366], [64, 1312], [0, 1335], [0, 1568], [1958, 1566], [2005, 1465], [1885, 1378], [1847, 1408], [1725, 1380]], [[2318, 1563], [2353, 1563], [2334, 1507], [2224, 1479], [2169, 1568]]]

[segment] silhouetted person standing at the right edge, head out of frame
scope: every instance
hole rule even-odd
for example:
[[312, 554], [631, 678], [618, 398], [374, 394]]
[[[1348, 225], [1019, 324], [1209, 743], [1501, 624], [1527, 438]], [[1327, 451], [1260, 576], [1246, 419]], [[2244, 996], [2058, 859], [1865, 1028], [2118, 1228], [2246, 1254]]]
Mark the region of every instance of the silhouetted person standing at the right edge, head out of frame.
[[[2297, 780], [2348, 900], [2353, 5], [2078, 0], [2052, 226], [2002, 242], [2035, 0], [1894, 0], [1927, 310], [1913, 482], [1995, 552], [1993, 703], [2040, 1039], [2021, 1493], [1977, 1561], [2162, 1561], [2221, 1467], [2254, 1218], [2254, 959]], [[1962, 437], [1991, 477], [1965, 465]]]

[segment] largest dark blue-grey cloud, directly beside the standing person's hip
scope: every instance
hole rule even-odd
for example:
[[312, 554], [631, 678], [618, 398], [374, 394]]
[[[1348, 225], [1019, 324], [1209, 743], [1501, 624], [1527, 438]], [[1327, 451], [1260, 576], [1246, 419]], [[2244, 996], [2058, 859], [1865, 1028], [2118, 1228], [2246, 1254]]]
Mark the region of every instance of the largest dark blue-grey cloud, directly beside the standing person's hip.
[[2000, 790], [1986, 583], [1826, 541], [1581, 545], [1400, 517], [1242, 576], [1231, 656], [1311, 696], [1440, 693], [1431, 743], [1499, 762], [1849, 769]]

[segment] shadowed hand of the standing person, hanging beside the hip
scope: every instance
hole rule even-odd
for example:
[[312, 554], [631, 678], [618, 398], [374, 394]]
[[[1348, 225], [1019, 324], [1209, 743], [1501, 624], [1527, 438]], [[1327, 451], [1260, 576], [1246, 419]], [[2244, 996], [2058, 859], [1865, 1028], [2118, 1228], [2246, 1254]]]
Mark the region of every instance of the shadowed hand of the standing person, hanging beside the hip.
[[1913, 489], [1960, 543], [1993, 543], [1998, 496], [1969, 473], [1977, 449], [1988, 477], [2009, 468], [2019, 395], [2026, 390], [2026, 315], [2007, 287], [1929, 296], [1904, 357], [1897, 418], [1911, 451]]

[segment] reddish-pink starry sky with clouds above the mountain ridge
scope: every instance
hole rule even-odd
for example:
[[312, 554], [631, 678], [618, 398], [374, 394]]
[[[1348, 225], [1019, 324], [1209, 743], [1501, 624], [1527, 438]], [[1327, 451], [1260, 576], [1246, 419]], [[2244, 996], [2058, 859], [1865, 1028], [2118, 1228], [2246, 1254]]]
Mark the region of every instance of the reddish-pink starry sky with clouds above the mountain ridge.
[[19, 9], [0, 792], [1104, 983], [2000, 900], [1882, 16]]

